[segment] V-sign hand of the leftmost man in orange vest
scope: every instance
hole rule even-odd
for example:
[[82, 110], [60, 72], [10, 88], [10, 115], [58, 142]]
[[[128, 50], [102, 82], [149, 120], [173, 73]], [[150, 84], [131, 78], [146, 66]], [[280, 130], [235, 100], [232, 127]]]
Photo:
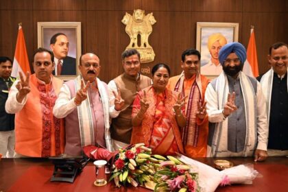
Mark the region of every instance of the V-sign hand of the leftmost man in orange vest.
[[21, 72], [19, 72], [20, 81], [16, 84], [16, 88], [18, 89], [18, 93], [16, 95], [16, 99], [19, 103], [21, 103], [24, 97], [31, 91], [29, 86], [29, 78], [30, 73], [26, 73], [26, 78], [23, 76]]

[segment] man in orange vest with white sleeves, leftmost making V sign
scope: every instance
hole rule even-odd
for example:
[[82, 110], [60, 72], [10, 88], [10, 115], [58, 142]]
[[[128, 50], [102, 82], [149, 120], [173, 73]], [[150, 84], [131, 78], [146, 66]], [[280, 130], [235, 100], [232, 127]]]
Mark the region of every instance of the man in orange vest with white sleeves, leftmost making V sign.
[[64, 123], [53, 116], [52, 109], [62, 80], [51, 75], [53, 53], [39, 48], [34, 53], [35, 74], [11, 87], [5, 110], [15, 116], [16, 156], [49, 157], [64, 152]]

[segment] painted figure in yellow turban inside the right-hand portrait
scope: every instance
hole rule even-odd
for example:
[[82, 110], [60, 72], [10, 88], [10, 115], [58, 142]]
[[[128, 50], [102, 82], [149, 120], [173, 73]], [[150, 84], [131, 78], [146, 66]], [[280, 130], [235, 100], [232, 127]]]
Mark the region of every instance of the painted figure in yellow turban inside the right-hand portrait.
[[220, 33], [212, 34], [208, 37], [207, 47], [211, 54], [211, 60], [201, 68], [202, 75], [220, 75], [222, 66], [219, 63], [218, 56], [221, 47], [226, 45], [226, 43], [226, 38]]

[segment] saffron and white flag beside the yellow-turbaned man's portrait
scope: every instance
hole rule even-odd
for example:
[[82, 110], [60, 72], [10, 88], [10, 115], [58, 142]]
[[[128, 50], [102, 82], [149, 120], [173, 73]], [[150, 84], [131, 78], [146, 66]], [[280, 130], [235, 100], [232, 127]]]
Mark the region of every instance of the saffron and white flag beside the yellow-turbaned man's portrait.
[[259, 76], [254, 26], [251, 26], [251, 34], [247, 47], [247, 60], [244, 63], [243, 72], [250, 77]]

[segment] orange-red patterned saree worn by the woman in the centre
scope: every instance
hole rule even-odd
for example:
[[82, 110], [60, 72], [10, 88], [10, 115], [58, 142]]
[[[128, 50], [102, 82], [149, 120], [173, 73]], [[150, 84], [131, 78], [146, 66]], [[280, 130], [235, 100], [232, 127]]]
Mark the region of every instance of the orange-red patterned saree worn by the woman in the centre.
[[[173, 112], [176, 100], [172, 91], [166, 90], [156, 95], [154, 88], [145, 88], [149, 108], [144, 114], [142, 124], [133, 127], [131, 143], [145, 143], [153, 149], [154, 154], [175, 155], [183, 153], [180, 131]], [[143, 95], [143, 91], [139, 94]], [[132, 109], [132, 117], [136, 116], [141, 108], [140, 97], [136, 96]]]

